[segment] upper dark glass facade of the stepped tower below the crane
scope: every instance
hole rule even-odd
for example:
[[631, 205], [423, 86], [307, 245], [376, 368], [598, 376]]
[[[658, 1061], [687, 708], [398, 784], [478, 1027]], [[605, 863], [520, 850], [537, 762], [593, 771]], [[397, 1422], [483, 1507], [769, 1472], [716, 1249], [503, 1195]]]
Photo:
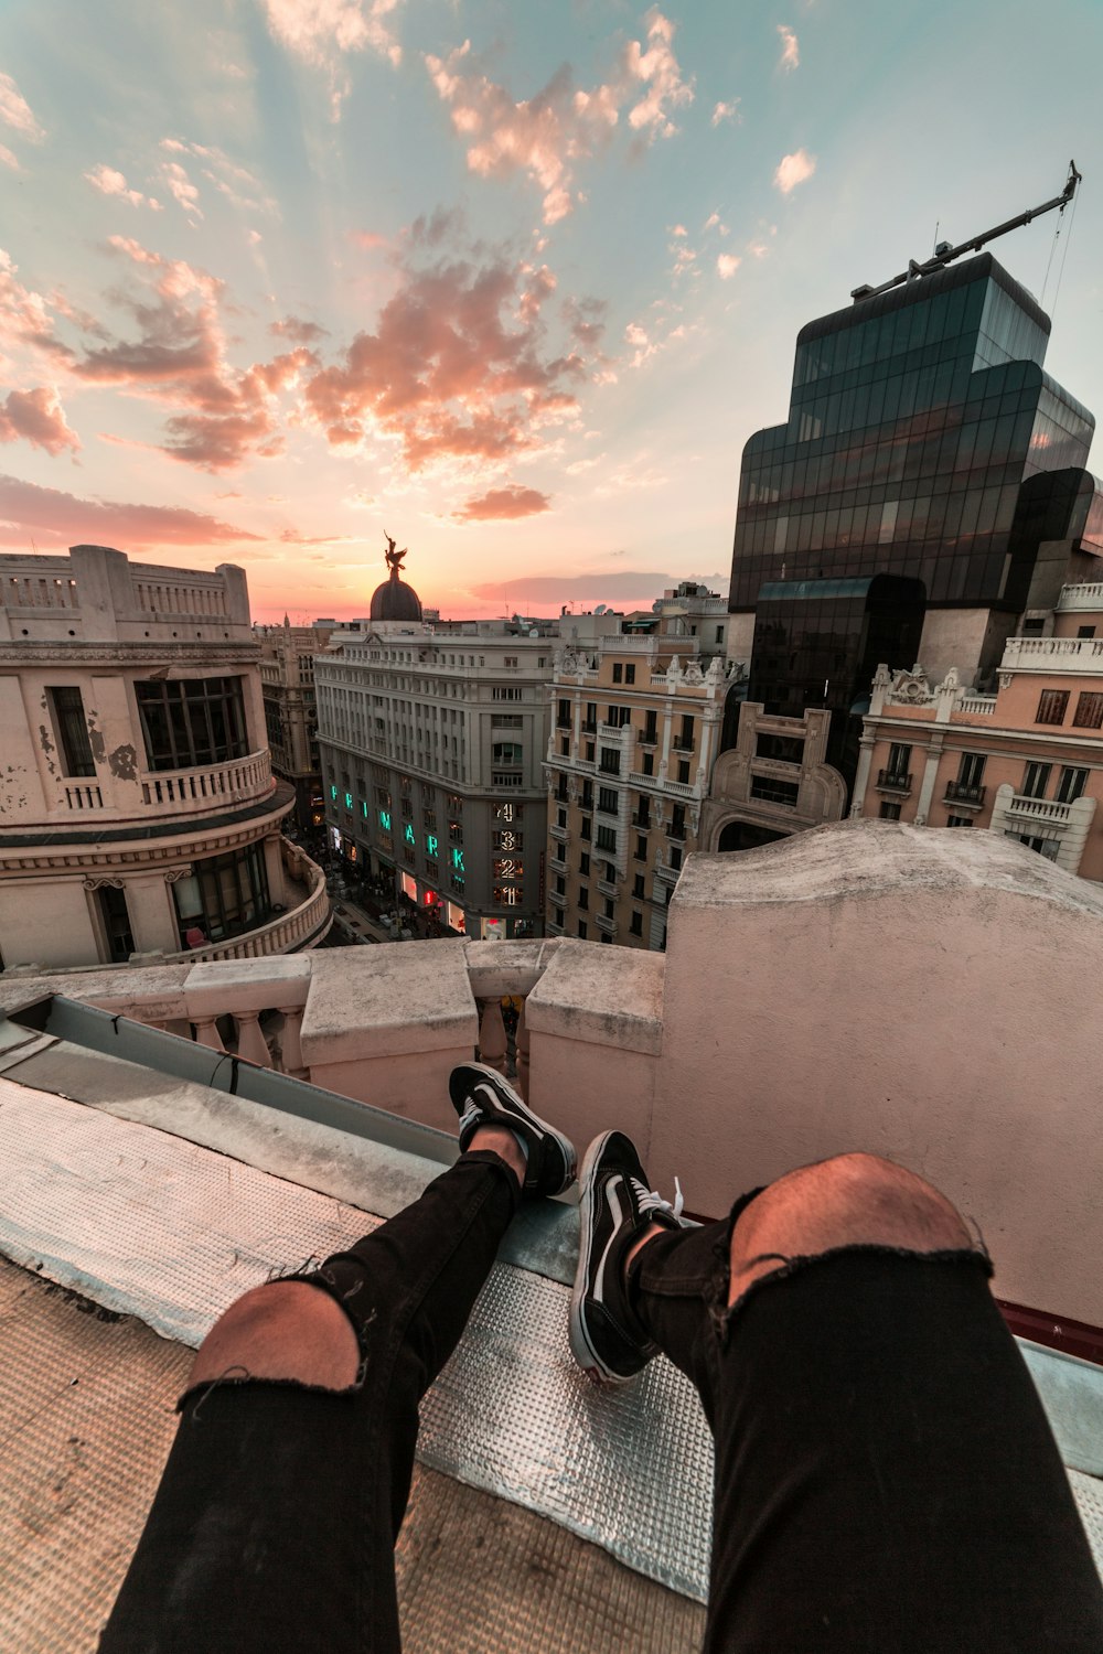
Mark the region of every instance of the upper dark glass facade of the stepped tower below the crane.
[[[1047, 495], [1035, 483], [1020, 511], [1024, 480], [1077, 471], [1091, 490], [1095, 420], [1045, 374], [1048, 332], [991, 253], [809, 323], [789, 420], [742, 453], [728, 607], [883, 572], [933, 605], [1022, 609]], [[1070, 509], [1082, 485], [1058, 490]]]

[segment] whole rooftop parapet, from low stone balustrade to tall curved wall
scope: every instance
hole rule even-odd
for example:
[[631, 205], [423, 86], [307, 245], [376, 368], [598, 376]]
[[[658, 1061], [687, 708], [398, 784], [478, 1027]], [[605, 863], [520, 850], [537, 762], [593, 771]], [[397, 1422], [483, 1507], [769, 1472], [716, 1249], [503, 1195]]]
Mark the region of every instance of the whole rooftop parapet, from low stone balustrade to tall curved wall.
[[1098, 1052], [1075, 1007], [1103, 974], [1103, 893], [1002, 835], [871, 820], [673, 877], [665, 956], [420, 941], [7, 974], [0, 1006], [68, 994], [450, 1131], [448, 1072], [481, 1049], [580, 1145], [630, 1133], [700, 1214], [867, 1148], [979, 1224], [1000, 1298], [1101, 1325]]

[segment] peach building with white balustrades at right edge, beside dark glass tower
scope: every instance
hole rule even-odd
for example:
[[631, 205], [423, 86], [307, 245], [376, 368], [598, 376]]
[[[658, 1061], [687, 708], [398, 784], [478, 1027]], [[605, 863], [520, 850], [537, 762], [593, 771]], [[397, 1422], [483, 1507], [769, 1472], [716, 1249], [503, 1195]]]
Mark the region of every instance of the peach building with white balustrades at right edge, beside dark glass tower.
[[994, 695], [878, 672], [850, 814], [987, 827], [1103, 880], [1103, 584], [1065, 586], [1043, 624], [1007, 640]]

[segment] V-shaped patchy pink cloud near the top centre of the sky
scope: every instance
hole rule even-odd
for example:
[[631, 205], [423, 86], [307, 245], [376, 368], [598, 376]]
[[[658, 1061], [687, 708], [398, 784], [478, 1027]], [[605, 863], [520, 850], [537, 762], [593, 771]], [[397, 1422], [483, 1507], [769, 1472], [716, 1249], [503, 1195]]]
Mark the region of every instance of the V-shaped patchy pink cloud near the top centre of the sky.
[[630, 129], [648, 141], [671, 137], [670, 111], [691, 103], [693, 84], [681, 79], [673, 25], [660, 12], [650, 12], [647, 25], [647, 43], [630, 41], [610, 79], [592, 91], [575, 89], [564, 66], [532, 98], [518, 99], [475, 66], [470, 40], [446, 58], [427, 56], [425, 68], [451, 109], [471, 172], [526, 172], [544, 192], [544, 223], [551, 225], [574, 208], [575, 165], [609, 141], [622, 109]]

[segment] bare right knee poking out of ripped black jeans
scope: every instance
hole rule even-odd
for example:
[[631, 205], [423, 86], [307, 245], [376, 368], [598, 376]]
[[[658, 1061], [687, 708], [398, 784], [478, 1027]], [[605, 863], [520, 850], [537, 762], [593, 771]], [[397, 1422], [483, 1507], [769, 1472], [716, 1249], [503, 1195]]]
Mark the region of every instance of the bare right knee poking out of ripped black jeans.
[[840, 1245], [939, 1252], [972, 1247], [972, 1237], [946, 1196], [916, 1173], [876, 1154], [835, 1154], [779, 1178], [739, 1214], [728, 1302], [784, 1259]]

